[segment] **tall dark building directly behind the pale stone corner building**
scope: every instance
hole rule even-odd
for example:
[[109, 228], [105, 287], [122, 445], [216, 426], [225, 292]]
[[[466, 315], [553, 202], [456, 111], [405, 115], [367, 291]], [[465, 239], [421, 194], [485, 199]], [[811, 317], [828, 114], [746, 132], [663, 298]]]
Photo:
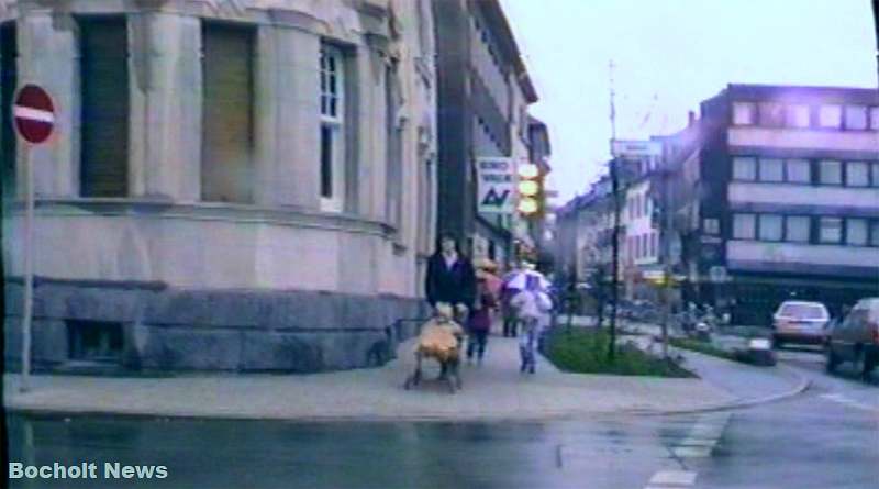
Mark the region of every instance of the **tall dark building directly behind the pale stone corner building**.
[[438, 226], [470, 253], [510, 258], [512, 215], [477, 212], [476, 159], [527, 160], [527, 105], [537, 101], [497, 0], [433, 2], [439, 126]]

